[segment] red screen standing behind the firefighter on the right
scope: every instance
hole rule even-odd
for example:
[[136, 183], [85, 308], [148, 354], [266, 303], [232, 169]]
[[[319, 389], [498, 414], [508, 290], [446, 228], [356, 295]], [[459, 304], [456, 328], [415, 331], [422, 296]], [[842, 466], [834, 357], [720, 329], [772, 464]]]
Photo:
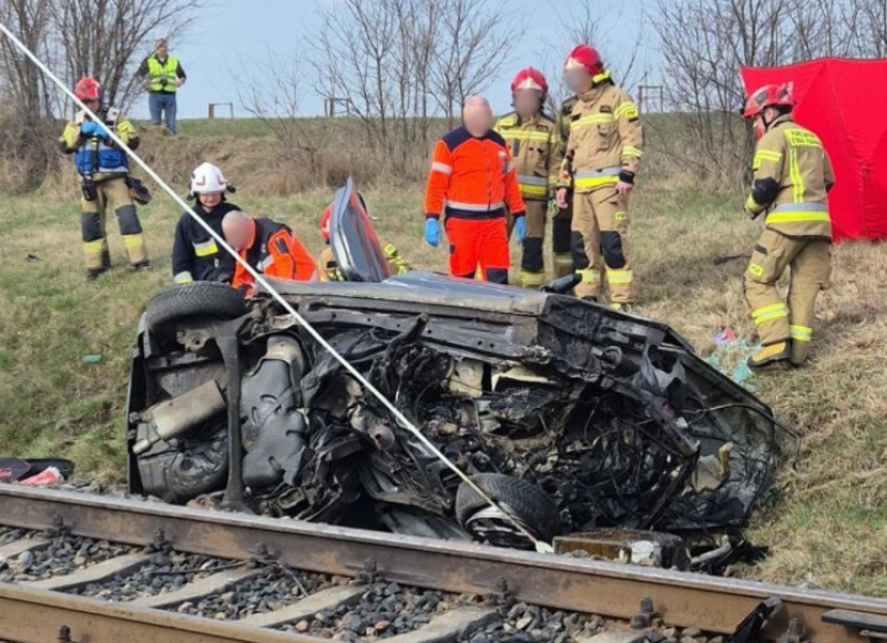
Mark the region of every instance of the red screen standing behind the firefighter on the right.
[[835, 166], [828, 195], [835, 241], [887, 238], [887, 60], [743, 68], [742, 78], [748, 92], [794, 83], [795, 119], [822, 139]]

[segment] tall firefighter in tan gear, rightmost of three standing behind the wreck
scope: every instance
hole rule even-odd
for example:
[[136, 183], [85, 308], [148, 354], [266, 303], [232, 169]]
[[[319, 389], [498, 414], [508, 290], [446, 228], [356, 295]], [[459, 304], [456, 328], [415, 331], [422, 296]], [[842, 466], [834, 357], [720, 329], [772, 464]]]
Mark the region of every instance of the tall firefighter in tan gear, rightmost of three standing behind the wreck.
[[567, 58], [568, 86], [579, 95], [558, 182], [558, 206], [573, 190], [572, 229], [582, 236], [587, 268], [577, 267], [580, 297], [599, 300], [606, 268], [611, 306], [630, 309], [634, 278], [629, 255], [629, 195], [643, 155], [643, 127], [631, 96], [619, 89], [600, 53], [580, 44]]

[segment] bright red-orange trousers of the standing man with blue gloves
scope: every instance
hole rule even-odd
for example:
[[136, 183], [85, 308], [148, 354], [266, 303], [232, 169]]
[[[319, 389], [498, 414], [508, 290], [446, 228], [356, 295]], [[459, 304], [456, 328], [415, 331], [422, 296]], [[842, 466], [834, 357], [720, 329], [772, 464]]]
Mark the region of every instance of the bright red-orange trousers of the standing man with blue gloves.
[[478, 267], [485, 280], [508, 284], [510, 257], [508, 221], [496, 218], [457, 218], [443, 223], [450, 245], [450, 275], [473, 279]]

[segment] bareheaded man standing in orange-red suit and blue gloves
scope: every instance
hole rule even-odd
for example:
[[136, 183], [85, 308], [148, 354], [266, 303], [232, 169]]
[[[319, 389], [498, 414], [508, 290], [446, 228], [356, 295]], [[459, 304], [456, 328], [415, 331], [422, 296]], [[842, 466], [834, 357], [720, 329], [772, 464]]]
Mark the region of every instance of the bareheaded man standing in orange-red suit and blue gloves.
[[445, 215], [450, 275], [471, 279], [480, 267], [486, 280], [507, 284], [506, 212], [523, 243], [526, 207], [511, 152], [491, 125], [490, 103], [471, 96], [462, 110], [462, 124], [435, 145], [425, 196], [425, 241], [432, 247], [440, 244], [439, 220]]

